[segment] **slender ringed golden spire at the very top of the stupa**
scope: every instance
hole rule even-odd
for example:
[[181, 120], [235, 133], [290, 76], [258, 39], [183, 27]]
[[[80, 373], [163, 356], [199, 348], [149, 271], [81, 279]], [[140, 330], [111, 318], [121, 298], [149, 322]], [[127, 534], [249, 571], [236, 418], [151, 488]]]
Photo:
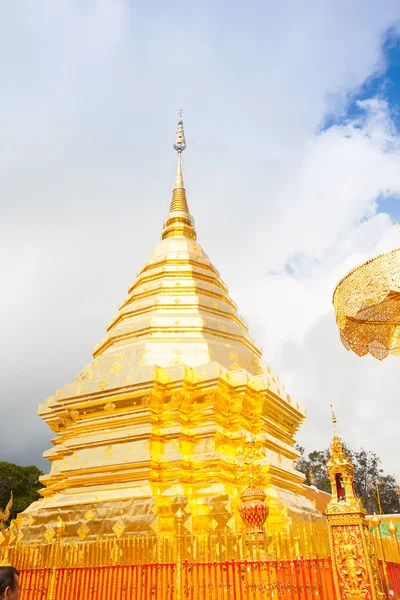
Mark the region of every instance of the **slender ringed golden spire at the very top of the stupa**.
[[186, 190], [182, 175], [182, 152], [186, 149], [185, 132], [183, 129], [182, 110], [179, 112], [178, 128], [176, 130], [174, 148], [178, 153], [175, 185], [168, 217], [164, 224], [163, 240], [172, 236], [183, 236], [196, 239], [194, 219], [189, 213], [186, 200]]

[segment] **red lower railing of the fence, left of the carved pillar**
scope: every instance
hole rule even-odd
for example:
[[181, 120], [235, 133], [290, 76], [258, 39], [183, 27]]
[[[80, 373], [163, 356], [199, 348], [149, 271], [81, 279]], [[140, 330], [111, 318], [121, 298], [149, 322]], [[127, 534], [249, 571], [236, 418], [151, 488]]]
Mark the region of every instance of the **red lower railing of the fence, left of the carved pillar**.
[[[21, 571], [21, 600], [48, 598], [52, 570]], [[335, 600], [330, 559], [60, 568], [56, 600]]]

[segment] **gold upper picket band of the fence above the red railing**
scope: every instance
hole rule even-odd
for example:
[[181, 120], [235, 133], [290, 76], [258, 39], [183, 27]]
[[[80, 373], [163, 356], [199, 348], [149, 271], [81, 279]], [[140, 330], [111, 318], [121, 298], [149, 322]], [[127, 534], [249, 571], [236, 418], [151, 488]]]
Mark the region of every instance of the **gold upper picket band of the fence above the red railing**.
[[249, 543], [246, 532], [226, 528], [216, 532], [179, 535], [126, 535], [97, 538], [85, 542], [18, 544], [0, 549], [0, 562], [8, 561], [20, 569], [46, 569], [112, 565], [172, 564], [177, 561], [213, 563], [235, 561], [293, 560], [327, 558], [330, 555], [325, 521], [292, 519], [290, 527], [279, 533], [256, 535]]

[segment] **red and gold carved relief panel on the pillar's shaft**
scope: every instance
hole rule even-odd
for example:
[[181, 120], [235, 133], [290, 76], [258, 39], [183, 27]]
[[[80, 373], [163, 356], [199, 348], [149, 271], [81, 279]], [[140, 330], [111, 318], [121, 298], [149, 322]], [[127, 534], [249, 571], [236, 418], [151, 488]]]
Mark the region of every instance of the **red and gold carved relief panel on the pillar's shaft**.
[[358, 527], [334, 527], [332, 533], [343, 597], [348, 600], [370, 600], [371, 587]]

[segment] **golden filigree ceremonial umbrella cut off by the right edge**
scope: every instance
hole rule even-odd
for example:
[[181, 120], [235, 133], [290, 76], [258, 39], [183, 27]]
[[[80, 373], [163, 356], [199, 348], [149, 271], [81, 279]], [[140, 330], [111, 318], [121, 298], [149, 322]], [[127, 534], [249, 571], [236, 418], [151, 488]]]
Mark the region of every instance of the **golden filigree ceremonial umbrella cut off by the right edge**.
[[333, 306], [340, 339], [358, 356], [400, 355], [400, 248], [352, 269], [338, 283]]

